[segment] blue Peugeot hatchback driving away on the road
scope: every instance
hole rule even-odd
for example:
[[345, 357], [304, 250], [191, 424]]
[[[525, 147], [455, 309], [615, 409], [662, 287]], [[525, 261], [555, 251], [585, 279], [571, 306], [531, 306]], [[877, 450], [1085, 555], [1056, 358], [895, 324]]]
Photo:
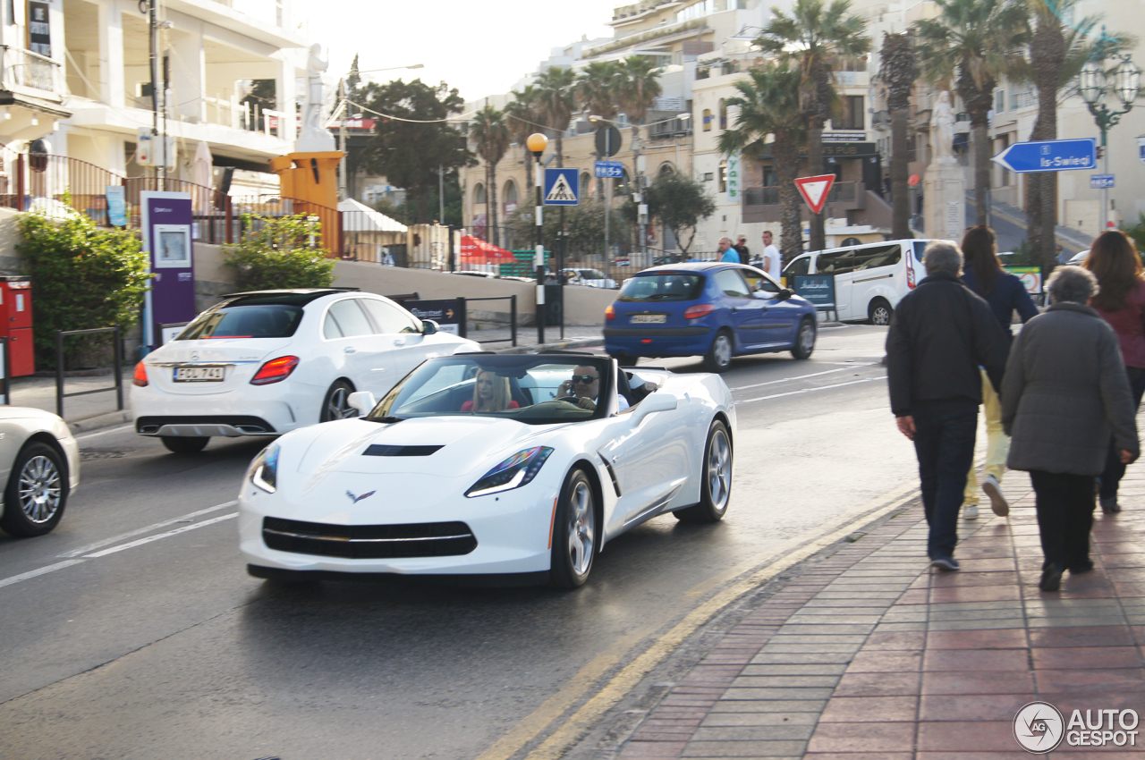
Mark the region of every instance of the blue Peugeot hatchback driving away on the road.
[[689, 262], [646, 269], [625, 280], [605, 310], [605, 350], [622, 364], [638, 356], [703, 356], [722, 372], [733, 356], [815, 349], [815, 307], [755, 267]]

